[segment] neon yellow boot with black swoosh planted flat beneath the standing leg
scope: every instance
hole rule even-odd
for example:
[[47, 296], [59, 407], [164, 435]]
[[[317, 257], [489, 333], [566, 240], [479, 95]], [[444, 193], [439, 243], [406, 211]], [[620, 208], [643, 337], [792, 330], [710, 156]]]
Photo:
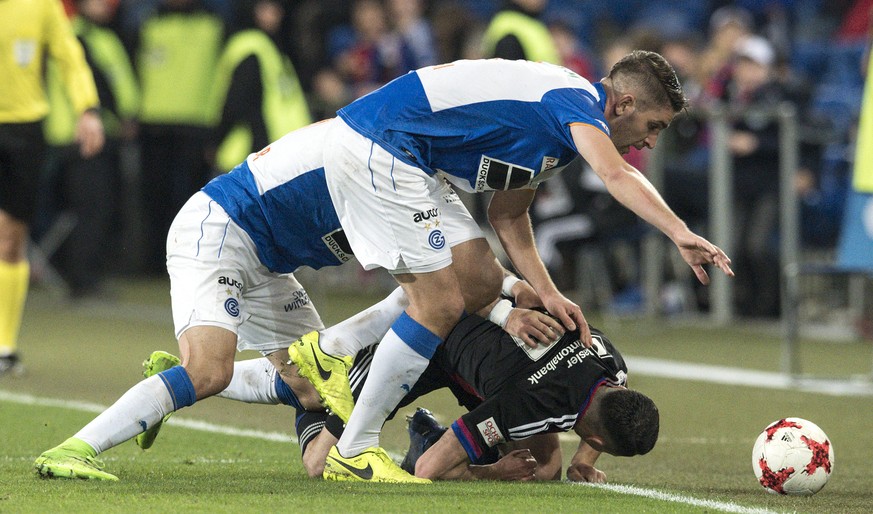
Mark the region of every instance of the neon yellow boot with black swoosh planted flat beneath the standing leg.
[[367, 448], [354, 457], [343, 457], [336, 446], [330, 448], [324, 464], [325, 480], [352, 482], [389, 482], [395, 484], [429, 484], [400, 469], [382, 448]]

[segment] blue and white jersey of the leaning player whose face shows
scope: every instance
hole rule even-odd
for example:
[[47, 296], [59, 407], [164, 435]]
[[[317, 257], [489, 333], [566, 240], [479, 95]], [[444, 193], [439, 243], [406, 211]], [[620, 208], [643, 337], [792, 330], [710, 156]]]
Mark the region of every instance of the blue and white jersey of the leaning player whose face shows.
[[466, 191], [532, 188], [578, 155], [572, 124], [609, 135], [606, 95], [547, 63], [488, 59], [430, 66], [338, 112], [353, 129]]

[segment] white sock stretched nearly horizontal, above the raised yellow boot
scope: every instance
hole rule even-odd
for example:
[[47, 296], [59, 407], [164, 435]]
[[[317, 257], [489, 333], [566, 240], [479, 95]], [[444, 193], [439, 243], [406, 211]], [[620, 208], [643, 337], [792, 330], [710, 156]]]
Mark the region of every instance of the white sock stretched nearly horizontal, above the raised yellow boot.
[[408, 305], [406, 293], [398, 287], [376, 305], [322, 330], [318, 343], [330, 355], [357, 355], [360, 350], [381, 341]]

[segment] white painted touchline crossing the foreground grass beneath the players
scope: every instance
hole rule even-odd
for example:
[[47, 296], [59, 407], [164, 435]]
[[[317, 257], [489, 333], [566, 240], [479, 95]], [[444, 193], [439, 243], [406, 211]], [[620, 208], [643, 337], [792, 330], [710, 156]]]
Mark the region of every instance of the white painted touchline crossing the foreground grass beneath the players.
[[[54, 407], [61, 409], [70, 409], [77, 410], [80, 412], [92, 412], [92, 413], [100, 413], [106, 410], [105, 405], [100, 405], [97, 403], [91, 402], [82, 402], [82, 401], [71, 401], [71, 400], [60, 400], [54, 398], [40, 398], [38, 396], [33, 396], [24, 393], [13, 393], [10, 391], [4, 391], [0, 389], [0, 402], [9, 402], [9, 403], [18, 403], [22, 405], [36, 405], [39, 407]], [[265, 432], [262, 430], [251, 430], [251, 429], [243, 429], [236, 428], [227, 425], [217, 425], [215, 423], [209, 423], [206, 421], [198, 421], [198, 420], [189, 420], [189, 419], [180, 419], [178, 417], [174, 417], [168, 421], [169, 424], [174, 426], [179, 426], [183, 428], [189, 428], [191, 430], [199, 430], [201, 432], [209, 432], [209, 433], [217, 433], [223, 435], [231, 435], [237, 437], [248, 437], [252, 439], [261, 439], [265, 441], [272, 442], [280, 442], [280, 443], [294, 443], [297, 444], [293, 438], [291, 438], [288, 434], [283, 434], [280, 432]], [[397, 458], [397, 456], [394, 456]], [[694, 507], [704, 507], [713, 510], [719, 510], [722, 512], [732, 512], [738, 514], [775, 514], [773, 511], [766, 509], [753, 509], [749, 507], [743, 507], [740, 505], [735, 505], [729, 502], [719, 502], [714, 500], [701, 500], [699, 498], [693, 498], [690, 496], [682, 496], [672, 493], [667, 493], [664, 491], [658, 491], [657, 489], [644, 489], [641, 487], [627, 486], [627, 485], [617, 485], [617, 484], [580, 484], [577, 482], [568, 482], [574, 485], [588, 485], [592, 487], [598, 487], [601, 489], [607, 489], [613, 492], [621, 493], [621, 494], [630, 494], [634, 496], [643, 496], [646, 498], [652, 498], [660, 501], [667, 501], [672, 503], [684, 503], [686, 505], [691, 505]]]

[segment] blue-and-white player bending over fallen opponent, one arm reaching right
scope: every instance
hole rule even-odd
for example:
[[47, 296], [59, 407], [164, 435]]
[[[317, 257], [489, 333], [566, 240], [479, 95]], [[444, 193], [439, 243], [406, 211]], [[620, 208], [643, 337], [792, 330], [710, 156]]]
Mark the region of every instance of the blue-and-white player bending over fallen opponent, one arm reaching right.
[[[562, 295], [537, 254], [528, 215], [537, 184], [572, 159], [584, 158], [607, 190], [663, 231], [698, 279], [704, 264], [732, 275], [730, 259], [691, 232], [635, 168], [631, 146], [654, 147], [687, 101], [672, 67], [635, 51], [601, 82], [545, 63], [458, 61], [400, 77], [338, 112], [325, 148], [325, 180], [349, 245], [367, 269], [394, 274], [409, 298], [382, 339], [357, 407], [347, 386], [321, 369], [342, 369], [350, 353], [318, 337], [289, 348], [301, 374], [347, 426], [327, 459], [325, 478], [404, 481], [378, 447], [388, 414], [471, 309], [469, 283], [456, 272], [442, 224], [445, 204], [433, 192], [445, 177], [467, 191], [493, 191], [488, 217], [516, 270], [568, 330], [591, 334], [578, 305]], [[478, 298], [490, 301], [499, 281], [484, 277]], [[484, 294], [487, 293], [487, 294]], [[484, 306], [484, 303], [482, 304]], [[409, 477], [412, 480], [412, 477]]]

